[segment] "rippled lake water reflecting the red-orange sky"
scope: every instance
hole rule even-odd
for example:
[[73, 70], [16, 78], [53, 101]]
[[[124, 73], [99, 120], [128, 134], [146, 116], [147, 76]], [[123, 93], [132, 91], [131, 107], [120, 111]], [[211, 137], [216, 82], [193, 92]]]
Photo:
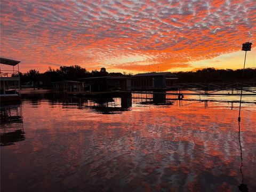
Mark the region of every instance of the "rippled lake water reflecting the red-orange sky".
[[1, 123], [1, 191], [256, 191], [255, 97], [243, 98], [242, 172], [239, 103], [227, 102], [239, 97], [148, 97], [23, 94], [2, 107], [21, 119]]

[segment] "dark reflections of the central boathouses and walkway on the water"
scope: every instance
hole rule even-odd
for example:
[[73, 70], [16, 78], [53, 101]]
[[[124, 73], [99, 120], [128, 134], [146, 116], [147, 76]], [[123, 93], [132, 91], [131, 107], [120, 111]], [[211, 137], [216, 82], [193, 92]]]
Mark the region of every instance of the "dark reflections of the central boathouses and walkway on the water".
[[[139, 103], [141, 105], [155, 105], [155, 106], [171, 106], [175, 101], [179, 103], [179, 106], [184, 106], [182, 101], [198, 101], [204, 103], [204, 107], [208, 107], [208, 103], [211, 101], [231, 103], [231, 109], [234, 109], [234, 103], [238, 100], [218, 100], [214, 98], [182, 98], [177, 97], [179, 94], [170, 92], [103, 92], [104, 94], [91, 94], [91, 95], [66, 95], [61, 100], [64, 106], [77, 106], [78, 109], [93, 109], [102, 114], [114, 114], [122, 113], [123, 111], [130, 110], [132, 103]], [[194, 93], [193, 93], [194, 94]], [[192, 94], [192, 95], [193, 95]], [[56, 94], [58, 97], [59, 94]], [[181, 101], [181, 102], [179, 102]], [[243, 101], [243, 103], [255, 103], [254, 101]], [[187, 105], [187, 104], [185, 104]]]

